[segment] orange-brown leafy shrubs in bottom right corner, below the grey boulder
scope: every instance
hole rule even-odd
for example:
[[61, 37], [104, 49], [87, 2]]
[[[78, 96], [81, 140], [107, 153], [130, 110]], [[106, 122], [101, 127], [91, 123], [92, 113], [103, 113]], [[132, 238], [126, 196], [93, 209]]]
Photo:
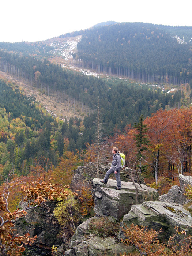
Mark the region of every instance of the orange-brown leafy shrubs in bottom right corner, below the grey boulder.
[[[126, 237], [123, 242], [125, 244], [133, 245], [138, 252], [136, 255], [191, 255], [192, 237], [187, 237], [186, 232], [184, 230], [180, 231], [178, 227], [176, 227], [176, 233], [170, 237], [168, 241], [164, 241], [164, 243], [160, 243], [157, 239], [157, 231], [153, 229], [148, 230], [147, 227], [144, 226], [139, 227], [131, 224], [130, 227], [127, 227], [123, 231]], [[159, 232], [161, 232], [161, 230]], [[131, 255], [132, 254], [129, 256]]]

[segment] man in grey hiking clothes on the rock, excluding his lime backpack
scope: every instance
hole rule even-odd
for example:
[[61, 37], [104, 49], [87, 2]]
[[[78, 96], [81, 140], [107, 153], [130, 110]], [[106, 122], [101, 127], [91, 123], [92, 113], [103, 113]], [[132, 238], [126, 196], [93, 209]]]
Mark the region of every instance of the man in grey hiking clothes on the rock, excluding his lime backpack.
[[112, 149], [113, 153], [113, 160], [111, 163], [110, 169], [106, 172], [105, 178], [101, 180], [101, 183], [107, 184], [109, 175], [114, 173], [117, 181], [117, 188], [116, 190], [121, 190], [121, 180], [120, 180], [120, 171], [121, 171], [121, 157], [118, 154], [118, 148], [113, 147]]

